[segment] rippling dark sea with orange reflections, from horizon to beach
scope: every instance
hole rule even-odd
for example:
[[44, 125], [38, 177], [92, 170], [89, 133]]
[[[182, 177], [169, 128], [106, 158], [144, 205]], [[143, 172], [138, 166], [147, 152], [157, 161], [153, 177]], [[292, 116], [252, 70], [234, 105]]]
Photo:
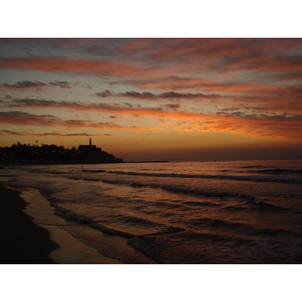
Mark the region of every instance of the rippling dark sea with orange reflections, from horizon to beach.
[[12, 166], [0, 181], [125, 264], [302, 263], [302, 160]]

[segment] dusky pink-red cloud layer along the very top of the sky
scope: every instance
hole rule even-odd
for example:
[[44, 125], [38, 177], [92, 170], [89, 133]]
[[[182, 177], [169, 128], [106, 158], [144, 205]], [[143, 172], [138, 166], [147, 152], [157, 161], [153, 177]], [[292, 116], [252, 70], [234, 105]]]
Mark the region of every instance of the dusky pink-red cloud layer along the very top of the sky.
[[[27, 40], [19, 40], [25, 43]], [[29, 41], [29, 40], [28, 40]], [[294, 72], [301, 69], [302, 39], [178, 38], [178, 39], [40, 39], [35, 45], [53, 47], [58, 57], [2, 57], [0, 67], [45, 72], [99, 74], [141, 80], [164, 75], [232, 73], [237, 71]], [[28, 42], [29, 43], [29, 42]], [[12, 43], [11, 43], [12, 44]], [[78, 57], [64, 51], [73, 45]], [[13, 47], [13, 46], [11, 46]], [[65, 57], [63, 57], [65, 56]], [[96, 57], [98, 59], [96, 59]], [[272, 74], [273, 75], [273, 74]], [[283, 78], [284, 79], [284, 78]]]

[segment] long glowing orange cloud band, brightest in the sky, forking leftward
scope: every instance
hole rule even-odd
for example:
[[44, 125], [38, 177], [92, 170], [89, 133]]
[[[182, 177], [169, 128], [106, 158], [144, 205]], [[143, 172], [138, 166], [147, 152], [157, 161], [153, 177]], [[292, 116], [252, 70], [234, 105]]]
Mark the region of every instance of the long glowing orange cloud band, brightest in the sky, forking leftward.
[[[20, 100], [22, 103], [22, 100]], [[192, 125], [187, 125], [186, 127], [191, 127], [194, 131], [198, 129], [200, 131], [229, 131], [240, 133], [248, 136], [268, 136], [272, 138], [282, 138], [282, 139], [300, 139], [301, 137], [301, 118], [299, 113], [290, 112], [271, 112], [264, 113], [262, 111], [251, 111], [249, 108], [244, 109], [241, 107], [224, 107], [221, 109], [215, 108], [212, 112], [200, 113], [198, 110], [186, 111], [179, 110], [180, 104], [167, 104], [159, 107], [136, 107], [131, 104], [131, 106], [122, 105], [110, 105], [110, 104], [79, 104], [76, 102], [54, 102], [45, 100], [26, 100], [22, 105], [36, 106], [36, 107], [55, 107], [55, 108], [68, 108], [85, 110], [92, 112], [114, 112], [118, 114], [129, 114], [129, 115], [142, 115], [142, 116], [153, 116], [156, 118], [170, 118], [174, 120], [187, 119], [193, 124], [195, 123], [195, 128]], [[172, 109], [172, 110], [171, 110]], [[0, 115], [0, 117], [2, 117]], [[13, 122], [12, 122], [13, 121]], [[197, 121], [204, 122], [204, 125], [200, 127], [196, 124]], [[129, 129], [129, 130], [152, 130], [149, 127], [139, 127], [139, 126], [122, 126], [112, 122], [99, 122], [93, 123], [91, 121], [80, 120], [80, 119], [69, 119], [61, 120], [53, 116], [23, 116], [18, 115], [18, 117], [1, 118], [0, 122], [13, 123], [13, 124], [40, 124], [40, 125], [56, 125], [56, 126], [66, 126], [71, 128], [107, 128], [107, 129]], [[214, 122], [214, 123], [212, 123]], [[207, 123], [207, 124], [206, 124]], [[211, 124], [212, 123], [212, 124]], [[160, 124], [158, 124], [160, 125]], [[199, 128], [198, 128], [199, 127]], [[182, 128], [180, 128], [182, 129]]]

